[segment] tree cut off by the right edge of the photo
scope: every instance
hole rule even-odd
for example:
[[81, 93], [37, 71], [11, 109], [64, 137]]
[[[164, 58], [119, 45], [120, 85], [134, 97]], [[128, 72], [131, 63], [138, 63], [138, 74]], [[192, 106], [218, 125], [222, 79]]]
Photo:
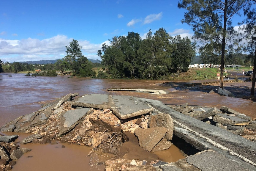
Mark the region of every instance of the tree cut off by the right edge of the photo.
[[[256, 3], [256, 1], [254, 1]], [[251, 95], [254, 95], [255, 89], [255, 76], [256, 76], [256, 10], [255, 8], [250, 8], [248, 6], [244, 9], [244, 15], [246, 19], [243, 20], [240, 24], [240, 35], [239, 41], [245, 40], [247, 43], [246, 45], [242, 46], [242, 50], [249, 52], [250, 54], [248, 57], [252, 58], [253, 62], [253, 75], [252, 75], [252, 89]]]

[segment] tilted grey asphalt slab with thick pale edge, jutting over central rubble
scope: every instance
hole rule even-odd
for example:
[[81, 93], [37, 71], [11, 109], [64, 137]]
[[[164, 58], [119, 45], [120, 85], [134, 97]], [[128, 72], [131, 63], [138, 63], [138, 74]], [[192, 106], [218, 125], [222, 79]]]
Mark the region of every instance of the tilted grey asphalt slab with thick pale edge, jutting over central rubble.
[[154, 111], [152, 107], [140, 103], [138, 98], [133, 96], [113, 95], [113, 103], [114, 106], [110, 107], [110, 109], [119, 119], [127, 119]]

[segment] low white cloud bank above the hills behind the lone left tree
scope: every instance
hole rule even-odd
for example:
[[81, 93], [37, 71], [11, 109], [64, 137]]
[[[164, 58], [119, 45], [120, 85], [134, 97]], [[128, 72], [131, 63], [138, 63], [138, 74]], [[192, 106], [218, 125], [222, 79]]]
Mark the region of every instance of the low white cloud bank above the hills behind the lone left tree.
[[[71, 41], [72, 38], [65, 35], [57, 35], [43, 40], [32, 38], [22, 40], [0, 39], [0, 59], [8, 62], [20, 62], [63, 58], [66, 55], [66, 46]], [[102, 44], [110, 45], [109, 41], [93, 44], [87, 40], [78, 40], [78, 43], [82, 46], [83, 55], [90, 59], [99, 58], [97, 51], [101, 49]]]

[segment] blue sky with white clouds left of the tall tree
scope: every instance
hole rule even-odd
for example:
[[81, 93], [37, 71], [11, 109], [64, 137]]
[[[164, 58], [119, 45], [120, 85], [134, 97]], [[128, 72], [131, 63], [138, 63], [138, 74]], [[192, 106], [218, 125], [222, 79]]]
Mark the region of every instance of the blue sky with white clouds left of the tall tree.
[[182, 24], [178, 0], [2, 0], [0, 59], [3, 62], [63, 58], [65, 46], [78, 40], [83, 55], [100, 59], [97, 50], [113, 36], [163, 27], [171, 36], [192, 36]]

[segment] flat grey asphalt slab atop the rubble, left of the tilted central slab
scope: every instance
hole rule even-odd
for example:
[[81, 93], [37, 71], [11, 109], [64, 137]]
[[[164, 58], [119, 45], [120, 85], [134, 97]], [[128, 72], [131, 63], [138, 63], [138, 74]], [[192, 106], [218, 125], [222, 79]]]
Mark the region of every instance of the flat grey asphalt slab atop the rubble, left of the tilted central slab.
[[107, 109], [110, 108], [108, 104], [108, 97], [106, 94], [89, 94], [70, 101], [69, 104], [73, 106], [94, 108], [94, 109]]

